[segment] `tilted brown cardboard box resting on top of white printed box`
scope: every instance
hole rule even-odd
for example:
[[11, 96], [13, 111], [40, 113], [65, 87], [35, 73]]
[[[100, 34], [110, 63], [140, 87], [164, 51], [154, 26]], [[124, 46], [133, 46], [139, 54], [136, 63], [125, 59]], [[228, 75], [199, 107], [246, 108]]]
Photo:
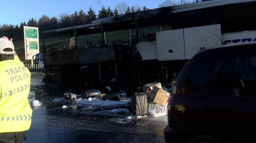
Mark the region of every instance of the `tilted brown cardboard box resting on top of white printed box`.
[[168, 101], [168, 98], [170, 96], [170, 93], [158, 88], [157, 86], [154, 86], [151, 93], [150, 93], [150, 99], [160, 105], [166, 105], [166, 102]]

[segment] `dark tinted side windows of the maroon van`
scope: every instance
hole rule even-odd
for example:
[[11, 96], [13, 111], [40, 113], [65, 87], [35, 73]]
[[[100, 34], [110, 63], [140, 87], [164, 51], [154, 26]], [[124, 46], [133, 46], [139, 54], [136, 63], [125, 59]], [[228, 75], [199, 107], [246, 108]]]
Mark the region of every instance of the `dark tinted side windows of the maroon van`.
[[205, 52], [193, 58], [178, 92], [256, 97], [255, 52]]

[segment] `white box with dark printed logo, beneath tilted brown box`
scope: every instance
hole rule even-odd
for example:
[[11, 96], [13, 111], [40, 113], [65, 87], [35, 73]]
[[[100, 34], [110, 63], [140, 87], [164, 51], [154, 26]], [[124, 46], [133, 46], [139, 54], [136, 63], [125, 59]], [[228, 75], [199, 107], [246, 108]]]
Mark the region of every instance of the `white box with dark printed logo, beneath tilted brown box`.
[[149, 117], [160, 117], [160, 116], [166, 116], [168, 112], [168, 102], [163, 106], [156, 103], [153, 103], [151, 101], [148, 101], [149, 105]]

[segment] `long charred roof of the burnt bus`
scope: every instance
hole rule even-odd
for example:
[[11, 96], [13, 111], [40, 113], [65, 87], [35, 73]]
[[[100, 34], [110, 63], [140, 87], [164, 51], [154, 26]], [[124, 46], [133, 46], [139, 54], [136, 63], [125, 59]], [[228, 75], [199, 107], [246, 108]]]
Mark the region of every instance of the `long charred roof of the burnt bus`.
[[[152, 18], [157, 18], [158, 24], [165, 24], [168, 22], [170, 23], [171, 21], [170, 16], [176, 13], [191, 12], [194, 10], [201, 10], [206, 8], [209, 9], [209, 8], [214, 8], [218, 6], [226, 6], [231, 4], [248, 3], [248, 2], [256, 2], [256, 0], [212, 0], [212, 1], [205, 1], [200, 3], [156, 8], [148, 11], [134, 12], [129, 14], [101, 18], [101, 19], [92, 21], [90, 24], [55, 29], [55, 30], [48, 30], [48, 31], [45, 31], [44, 34], [69, 33], [74, 30], [79, 31], [79, 29], [87, 29], [90, 31], [91, 30], [100, 31], [101, 26], [104, 27], [104, 31], [107, 31], [108, 29], [111, 29], [111, 30], [124, 29], [125, 27], [132, 28], [132, 27], [135, 27], [135, 21], [143, 22], [143, 26], [156, 24], [156, 21], [152, 20]], [[226, 9], [226, 8], [223, 7], [223, 9]], [[174, 17], [174, 19], [175, 18], [176, 17]], [[84, 33], [84, 31], [82, 30], [81, 33]]]

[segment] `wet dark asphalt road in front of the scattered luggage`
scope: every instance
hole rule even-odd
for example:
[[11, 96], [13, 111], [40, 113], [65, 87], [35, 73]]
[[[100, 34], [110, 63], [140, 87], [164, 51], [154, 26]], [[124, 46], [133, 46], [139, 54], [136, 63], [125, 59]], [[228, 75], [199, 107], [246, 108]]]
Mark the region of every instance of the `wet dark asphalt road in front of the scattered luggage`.
[[[43, 76], [32, 76], [31, 85], [41, 85]], [[33, 87], [33, 86], [32, 86]], [[167, 118], [126, 119], [82, 112], [82, 104], [53, 102], [56, 97], [35, 96], [43, 104], [32, 107], [32, 125], [25, 143], [164, 143]], [[59, 96], [60, 97], [60, 96]], [[62, 108], [67, 105], [67, 108]]]

